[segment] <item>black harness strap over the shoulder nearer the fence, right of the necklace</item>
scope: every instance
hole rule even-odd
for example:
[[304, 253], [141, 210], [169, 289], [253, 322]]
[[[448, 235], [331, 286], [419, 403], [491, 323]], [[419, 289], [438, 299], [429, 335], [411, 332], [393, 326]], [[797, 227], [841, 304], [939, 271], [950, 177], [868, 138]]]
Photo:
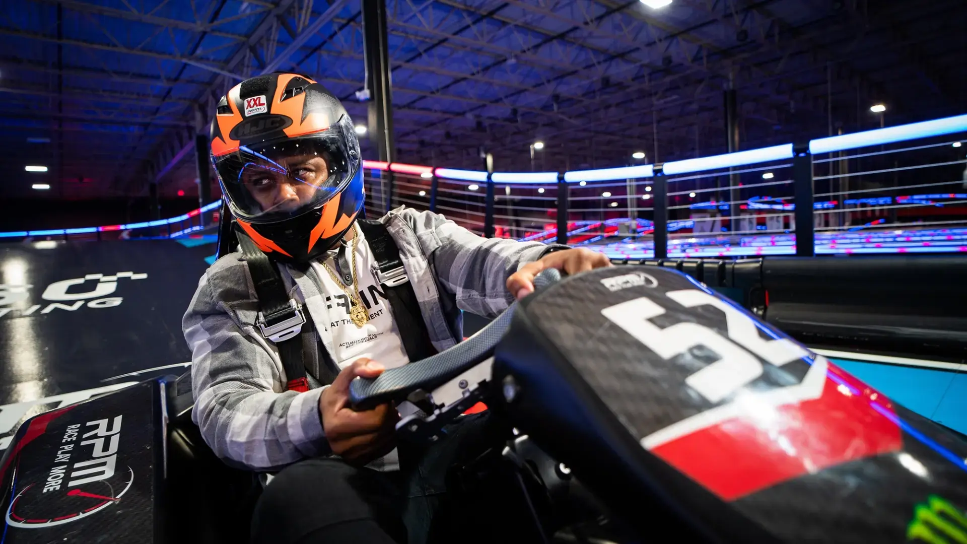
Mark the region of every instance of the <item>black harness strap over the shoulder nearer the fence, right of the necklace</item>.
[[376, 280], [386, 292], [406, 356], [411, 361], [419, 361], [435, 354], [436, 349], [429, 340], [416, 292], [406, 276], [399, 258], [399, 248], [390, 231], [378, 221], [357, 220], [356, 224], [363, 231], [366, 244], [376, 259], [379, 269]]

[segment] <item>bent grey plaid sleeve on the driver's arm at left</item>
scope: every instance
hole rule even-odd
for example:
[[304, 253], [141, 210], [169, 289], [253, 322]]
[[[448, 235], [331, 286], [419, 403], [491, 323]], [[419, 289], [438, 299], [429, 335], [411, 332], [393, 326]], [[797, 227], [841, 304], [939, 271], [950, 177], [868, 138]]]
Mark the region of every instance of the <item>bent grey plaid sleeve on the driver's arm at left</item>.
[[284, 391], [275, 346], [240, 324], [246, 320], [240, 315], [253, 317], [254, 301], [250, 310], [244, 301], [232, 310], [225, 305], [233, 295], [249, 298], [248, 278], [233, 281], [234, 272], [206, 272], [182, 321], [191, 349], [192, 419], [220, 459], [242, 468], [273, 470], [328, 453], [318, 408], [322, 389]]

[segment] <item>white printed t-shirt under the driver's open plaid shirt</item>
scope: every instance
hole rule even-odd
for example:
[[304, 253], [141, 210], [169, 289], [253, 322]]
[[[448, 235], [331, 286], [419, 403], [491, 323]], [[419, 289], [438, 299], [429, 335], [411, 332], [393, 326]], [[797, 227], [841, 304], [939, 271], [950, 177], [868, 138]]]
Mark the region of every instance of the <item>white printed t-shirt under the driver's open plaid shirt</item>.
[[[357, 327], [349, 318], [352, 300], [343, 289], [343, 284], [337, 284], [319, 261], [312, 261], [315, 273], [322, 282], [322, 293], [326, 299], [326, 307], [329, 309], [329, 334], [333, 338], [336, 364], [343, 369], [356, 359], [366, 357], [388, 369], [403, 366], [409, 362], [409, 357], [406, 356], [403, 348], [383, 287], [379, 285], [375, 274], [372, 273], [375, 258], [369, 250], [369, 244], [366, 243], [363, 232], [357, 228], [356, 234], [359, 236], [359, 242], [356, 245], [356, 270], [353, 271], [353, 276], [357, 278], [360, 287], [360, 301], [369, 313], [369, 321], [362, 327]], [[353, 241], [350, 240], [349, 247], [352, 248], [352, 245]], [[333, 256], [319, 260], [325, 262], [336, 274], [348, 272], [337, 268]], [[348, 252], [346, 260], [352, 266], [353, 258]], [[352, 290], [352, 287], [348, 287], [348, 290]]]

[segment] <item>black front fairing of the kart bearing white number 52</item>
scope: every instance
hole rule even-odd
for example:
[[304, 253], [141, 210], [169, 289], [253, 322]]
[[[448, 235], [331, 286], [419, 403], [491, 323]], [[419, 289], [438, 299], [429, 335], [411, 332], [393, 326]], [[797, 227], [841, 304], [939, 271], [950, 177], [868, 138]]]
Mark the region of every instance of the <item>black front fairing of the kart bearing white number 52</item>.
[[528, 297], [493, 383], [491, 408], [642, 536], [967, 539], [959, 438], [667, 268]]

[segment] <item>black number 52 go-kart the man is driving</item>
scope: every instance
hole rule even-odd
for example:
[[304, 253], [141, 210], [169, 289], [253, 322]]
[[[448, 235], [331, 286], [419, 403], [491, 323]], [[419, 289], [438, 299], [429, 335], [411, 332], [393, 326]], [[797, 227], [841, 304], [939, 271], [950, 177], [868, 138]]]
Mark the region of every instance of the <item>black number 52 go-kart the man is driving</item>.
[[[506, 427], [452, 468], [480, 516], [475, 494], [511, 484], [467, 541], [967, 542], [964, 441], [667, 268], [548, 280], [351, 392], [395, 402], [400, 440], [478, 402]], [[257, 478], [213, 455], [190, 408], [170, 377], [25, 422], [0, 542], [245, 542]]]

